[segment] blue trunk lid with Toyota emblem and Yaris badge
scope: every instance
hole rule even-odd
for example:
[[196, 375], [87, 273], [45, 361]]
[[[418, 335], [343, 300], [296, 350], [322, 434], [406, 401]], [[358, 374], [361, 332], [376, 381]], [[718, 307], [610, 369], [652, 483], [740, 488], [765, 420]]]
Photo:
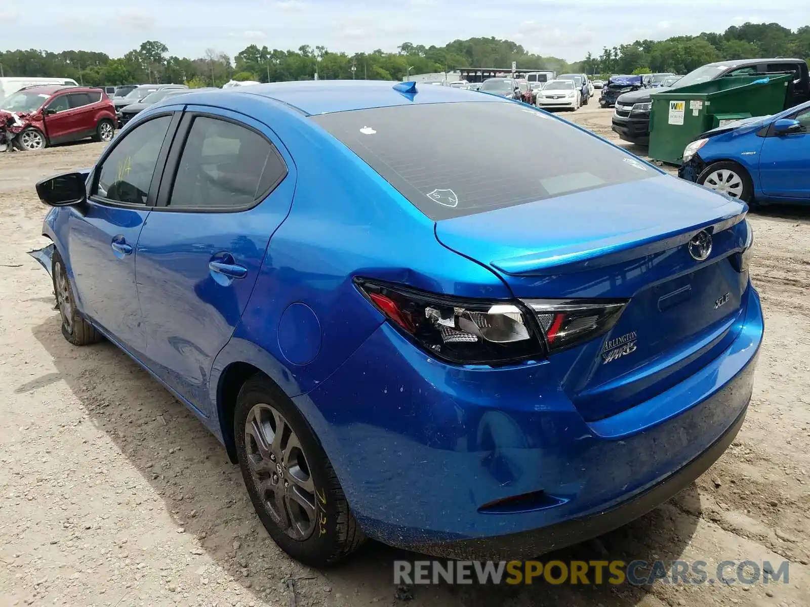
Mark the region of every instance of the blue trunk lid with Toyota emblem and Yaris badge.
[[[446, 219], [436, 236], [522, 299], [629, 300], [610, 332], [549, 359], [593, 421], [670, 388], [735, 337], [748, 284], [735, 269], [746, 208], [660, 176]], [[703, 230], [712, 249], [696, 261], [689, 240]]]

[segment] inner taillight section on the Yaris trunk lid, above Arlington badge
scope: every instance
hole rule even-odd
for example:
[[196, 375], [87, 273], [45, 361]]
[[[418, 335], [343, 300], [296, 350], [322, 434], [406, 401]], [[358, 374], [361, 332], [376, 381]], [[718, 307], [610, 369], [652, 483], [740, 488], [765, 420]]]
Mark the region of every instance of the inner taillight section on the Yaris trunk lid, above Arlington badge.
[[523, 299], [523, 303], [535, 312], [546, 336], [548, 353], [553, 354], [608, 333], [627, 300]]

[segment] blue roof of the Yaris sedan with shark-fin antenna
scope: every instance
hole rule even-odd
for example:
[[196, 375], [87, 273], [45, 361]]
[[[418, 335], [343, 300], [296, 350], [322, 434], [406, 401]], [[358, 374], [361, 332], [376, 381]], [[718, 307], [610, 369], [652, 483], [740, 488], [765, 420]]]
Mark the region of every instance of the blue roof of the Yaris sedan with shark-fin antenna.
[[395, 90], [395, 84], [390, 80], [309, 80], [252, 84], [233, 87], [228, 92], [267, 97], [309, 115], [396, 105], [503, 102], [501, 97], [481, 95], [463, 88], [415, 83], [416, 93], [411, 94]]

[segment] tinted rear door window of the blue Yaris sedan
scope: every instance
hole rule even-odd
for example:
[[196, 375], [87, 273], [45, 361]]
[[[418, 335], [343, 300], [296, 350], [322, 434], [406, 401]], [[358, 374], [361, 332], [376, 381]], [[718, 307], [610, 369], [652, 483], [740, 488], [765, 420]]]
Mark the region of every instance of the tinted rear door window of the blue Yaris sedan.
[[253, 206], [287, 175], [275, 146], [245, 126], [194, 118], [177, 166], [169, 208], [238, 210]]

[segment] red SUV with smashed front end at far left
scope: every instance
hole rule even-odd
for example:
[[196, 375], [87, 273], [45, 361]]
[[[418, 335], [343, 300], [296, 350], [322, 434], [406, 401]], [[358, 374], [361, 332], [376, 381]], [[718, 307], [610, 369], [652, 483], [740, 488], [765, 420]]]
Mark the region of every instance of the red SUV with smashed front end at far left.
[[26, 87], [0, 101], [0, 112], [17, 117], [14, 130], [19, 150], [40, 150], [87, 137], [106, 142], [115, 134], [113, 101], [100, 88]]

